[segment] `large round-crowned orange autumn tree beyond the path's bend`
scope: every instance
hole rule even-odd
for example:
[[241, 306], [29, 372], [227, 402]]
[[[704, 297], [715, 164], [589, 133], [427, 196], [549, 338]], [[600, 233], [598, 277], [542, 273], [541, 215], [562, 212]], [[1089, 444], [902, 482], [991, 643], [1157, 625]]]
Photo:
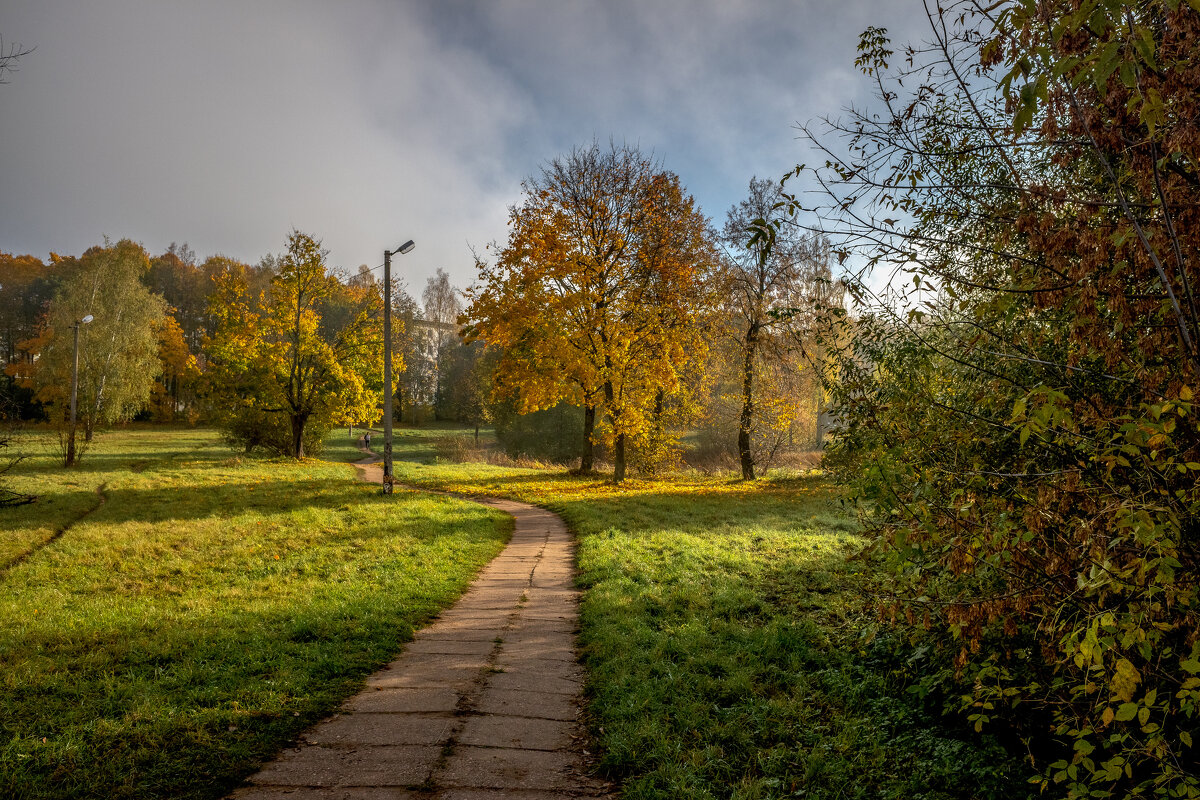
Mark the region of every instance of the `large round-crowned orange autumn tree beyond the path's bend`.
[[583, 408], [584, 471], [602, 409], [620, 482], [628, 443], [704, 351], [708, 222], [636, 148], [578, 148], [523, 187], [508, 243], [494, 265], [479, 263], [466, 335], [500, 349], [494, 391], [521, 413]]

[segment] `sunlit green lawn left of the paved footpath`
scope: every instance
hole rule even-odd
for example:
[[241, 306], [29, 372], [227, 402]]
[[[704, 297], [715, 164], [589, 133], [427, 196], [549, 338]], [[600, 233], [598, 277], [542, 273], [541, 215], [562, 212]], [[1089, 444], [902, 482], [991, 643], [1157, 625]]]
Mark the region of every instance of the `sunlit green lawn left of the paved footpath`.
[[[336, 437], [330, 457], [353, 452]], [[235, 458], [210, 432], [108, 434], [72, 470], [18, 449], [6, 481], [38, 500], [0, 509], [2, 798], [222, 796], [511, 530], [342, 463]]]

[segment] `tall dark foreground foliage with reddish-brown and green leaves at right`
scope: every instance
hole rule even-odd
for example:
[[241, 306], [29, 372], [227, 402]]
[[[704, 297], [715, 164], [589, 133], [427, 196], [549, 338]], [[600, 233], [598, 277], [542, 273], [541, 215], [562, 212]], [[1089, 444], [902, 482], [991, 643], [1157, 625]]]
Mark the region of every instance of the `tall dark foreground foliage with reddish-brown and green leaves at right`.
[[952, 4], [890, 72], [869, 31], [890, 114], [818, 170], [916, 287], [834, 383], [882, 612], [1055, 796], [1200, 796], [1196, 6]]

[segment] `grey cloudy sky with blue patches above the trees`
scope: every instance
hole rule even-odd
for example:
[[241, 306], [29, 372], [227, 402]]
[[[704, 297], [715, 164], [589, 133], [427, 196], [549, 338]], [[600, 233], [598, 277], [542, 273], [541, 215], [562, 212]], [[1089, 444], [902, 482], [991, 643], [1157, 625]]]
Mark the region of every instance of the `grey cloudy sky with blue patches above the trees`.
[[794, 126], [868, 101], [858, 34], [924, 32], [920, 0], [0, 0], [0, 251], [257, 261], [287, 233], [330, 263], [473, 278], [521, 180], [628, 142], [724, 218], [805, 161]]

